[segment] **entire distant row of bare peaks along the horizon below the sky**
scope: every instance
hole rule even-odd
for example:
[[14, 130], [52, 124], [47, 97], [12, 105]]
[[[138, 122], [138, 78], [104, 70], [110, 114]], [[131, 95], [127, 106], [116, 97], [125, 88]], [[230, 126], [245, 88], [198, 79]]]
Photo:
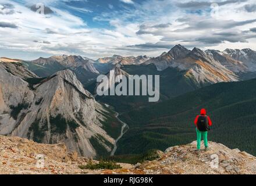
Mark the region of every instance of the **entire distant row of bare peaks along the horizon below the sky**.
[[[51, 76], [56, 71], [70, 69], [84, 86], [91, 84], [99, 74], [106, 74], [116, 65], [144, 66], [154, 64], [158, 71], [177, 69], [196, 87], [219, 82], [240, 81], [256, 77], [256, 52], [251, 49], [225, 49], [225, 51], [194, 48], [191, 51], [175, 45], [169, 52], [157, 58], [148, 56], [120, 56], [88, 59], [82, 56], [51, 56], [32, 61], [20, 60], [29, 70], [40, 77]], [[125, 70], [125, 69], [124, 69]], [[127, 72], [129, 73], [129, 72]], [[140, 74], [144, 72], [141, 71]], [[158, 72], [155, 72], [157, 74]]]

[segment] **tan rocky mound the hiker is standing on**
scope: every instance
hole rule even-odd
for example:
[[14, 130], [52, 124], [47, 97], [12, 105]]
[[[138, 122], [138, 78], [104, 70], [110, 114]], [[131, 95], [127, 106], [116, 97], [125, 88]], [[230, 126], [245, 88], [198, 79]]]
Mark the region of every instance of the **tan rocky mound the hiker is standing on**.
[[[146, 174], [255, 174], [256, 158], [239, 149], [209, 142], [208, 151], [197, 152], [196, 141], [172, 146], [162, 158], [141, 164]], [[203, 146], [203, 142], [201, 142]]]

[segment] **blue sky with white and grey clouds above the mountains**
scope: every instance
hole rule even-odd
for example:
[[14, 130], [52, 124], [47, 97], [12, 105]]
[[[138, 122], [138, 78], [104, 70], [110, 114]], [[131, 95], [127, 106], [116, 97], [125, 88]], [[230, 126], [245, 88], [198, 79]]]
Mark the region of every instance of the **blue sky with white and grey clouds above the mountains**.
[[0, 56], [158, 56], [175, 44], [256, 50], [256, 1], [0, 0]]

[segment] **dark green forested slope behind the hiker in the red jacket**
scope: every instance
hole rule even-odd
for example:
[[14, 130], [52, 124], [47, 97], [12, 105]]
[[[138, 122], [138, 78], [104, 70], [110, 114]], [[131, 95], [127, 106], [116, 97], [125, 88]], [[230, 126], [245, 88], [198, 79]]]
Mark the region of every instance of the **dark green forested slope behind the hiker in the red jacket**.
[[[124, 113], [130, 130], [118, 153], [165, 149], [195, 139], [194, 118], [206, 108], [213, 126], [209, 140], [256, 154], [256, 79], [218, 83], [143, 109]], [[138, 143], [139, 141], [139, 143]]]

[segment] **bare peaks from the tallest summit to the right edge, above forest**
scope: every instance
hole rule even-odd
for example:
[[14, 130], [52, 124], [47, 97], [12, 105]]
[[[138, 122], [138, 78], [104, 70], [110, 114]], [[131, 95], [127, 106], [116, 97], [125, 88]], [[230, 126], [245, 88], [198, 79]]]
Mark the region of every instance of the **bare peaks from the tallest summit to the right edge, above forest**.
[[143, 65], [154, 64], [160, 71], [168, 67], [178, 68], [187, 71], [185, 76], [198, 84], [214, 84], [254, 78], [255, 56], [256, 52], [251, 49], [221, 52], [194, 48], [190, 51], [182, 45], [175, 45], [169, 52], [151, 58]]

